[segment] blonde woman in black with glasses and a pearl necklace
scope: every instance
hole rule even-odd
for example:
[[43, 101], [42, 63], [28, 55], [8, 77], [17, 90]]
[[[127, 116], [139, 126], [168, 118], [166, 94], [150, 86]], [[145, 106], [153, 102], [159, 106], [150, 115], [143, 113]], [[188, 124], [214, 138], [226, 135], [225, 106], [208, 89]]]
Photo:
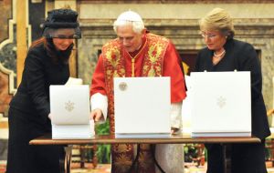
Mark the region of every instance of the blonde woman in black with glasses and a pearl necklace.
[[[206, 47], [198, 56], [195, 71], [250, 71], [252, 135], [259, 137], [258, 144], [232, 144], [232, 173], [266, 173], [265, 138], [269, 136], [266, 107], [261, 94], [262, 76], [257, 53], [253, 46], [234, 39], [231, 16], [215, 8], [200, 20], [200, 29]], [[225, 89], [225, 88], [224, 88]], [[237, 123], [237, 122], [236, 122]], [[223, 173], [224, 147], [220, 144], [205, 145], [208, 151], [207, 173]]]

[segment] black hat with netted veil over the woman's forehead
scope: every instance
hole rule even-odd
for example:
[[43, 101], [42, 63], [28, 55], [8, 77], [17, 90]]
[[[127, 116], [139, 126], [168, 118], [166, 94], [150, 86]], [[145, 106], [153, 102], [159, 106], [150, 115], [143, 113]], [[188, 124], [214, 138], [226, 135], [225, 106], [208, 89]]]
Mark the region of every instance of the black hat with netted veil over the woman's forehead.
[[78, 13], [71, 9], [55, 9], [47, 12], [43, 24], [43, 36], [47, 38], [80, 38]]

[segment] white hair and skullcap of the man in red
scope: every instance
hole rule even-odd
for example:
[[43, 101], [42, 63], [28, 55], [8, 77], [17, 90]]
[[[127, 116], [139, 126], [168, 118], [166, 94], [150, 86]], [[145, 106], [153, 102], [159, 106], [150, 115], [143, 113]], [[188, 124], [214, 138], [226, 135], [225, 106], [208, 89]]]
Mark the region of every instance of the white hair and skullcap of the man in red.
[[113, 24], [113, 29], [117, 33], [117, 27], [124, 25], [132, 25], [134, 33], [138, 34], [141, 34], [144, 29], [142, 17], [131, 10], [123, 12], [118, 16], [117, 20]]

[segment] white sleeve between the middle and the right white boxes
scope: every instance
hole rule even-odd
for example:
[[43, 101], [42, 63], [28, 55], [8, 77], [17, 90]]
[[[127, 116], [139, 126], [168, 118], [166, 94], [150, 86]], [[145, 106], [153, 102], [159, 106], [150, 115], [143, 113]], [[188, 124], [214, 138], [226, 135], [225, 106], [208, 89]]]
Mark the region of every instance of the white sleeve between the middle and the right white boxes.
[[182, 102], [172, 103], [170, 108], [171, 127], [181, 128], [182, 126]]

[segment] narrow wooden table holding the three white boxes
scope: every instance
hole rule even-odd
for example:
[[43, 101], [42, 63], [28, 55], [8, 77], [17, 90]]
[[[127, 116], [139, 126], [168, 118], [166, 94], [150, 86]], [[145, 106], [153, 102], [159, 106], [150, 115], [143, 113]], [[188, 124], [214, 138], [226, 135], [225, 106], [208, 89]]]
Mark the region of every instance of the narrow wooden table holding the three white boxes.
[[50, 134], [37, 137], [30, 145], [68, 145], [65, 148], [63, 172], [70, 172], [71, 145], [87, 144], [189, 144], [189, 143], [259, 143], [258, 137], [190, 137], [189, 135], [174, 135], [168, 138], [115, 138], [111, 135], [95, 136], [90, 139], [52, 139]]

